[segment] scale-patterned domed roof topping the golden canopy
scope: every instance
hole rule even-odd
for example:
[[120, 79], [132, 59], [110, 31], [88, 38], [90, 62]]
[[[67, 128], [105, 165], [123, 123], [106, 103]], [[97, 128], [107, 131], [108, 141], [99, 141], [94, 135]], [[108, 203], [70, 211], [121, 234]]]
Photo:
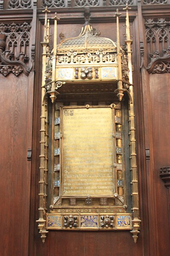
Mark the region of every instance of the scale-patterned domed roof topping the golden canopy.
[[115, 51], [116, 44], [109, 38], [99, 37], [94, 35], [94, 29], [87, 24], [81, 29], [80, 35], [74, 38], [68, 38], [58, 44], [58, 51], [93, 51], [93, 50], [107, 50]]

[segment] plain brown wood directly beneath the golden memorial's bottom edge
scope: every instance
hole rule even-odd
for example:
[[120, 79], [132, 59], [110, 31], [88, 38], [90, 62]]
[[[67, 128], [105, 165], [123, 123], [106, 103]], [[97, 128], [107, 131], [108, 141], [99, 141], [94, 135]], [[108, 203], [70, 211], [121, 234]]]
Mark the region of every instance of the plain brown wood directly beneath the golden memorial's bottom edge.
[[50, 231], [45, 244], [36, 241], [36, 256], [142, 256], [141, 239], [130, 232]]

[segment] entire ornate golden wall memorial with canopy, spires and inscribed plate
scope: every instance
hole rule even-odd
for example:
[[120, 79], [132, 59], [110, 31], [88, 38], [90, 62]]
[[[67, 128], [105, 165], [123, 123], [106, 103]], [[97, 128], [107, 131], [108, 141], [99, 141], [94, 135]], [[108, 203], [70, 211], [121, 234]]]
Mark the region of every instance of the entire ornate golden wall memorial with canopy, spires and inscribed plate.
[[[131, 230], [136, 242], [139, 229], [133, 77], [128, 6], [126, 6], [127, 51], [120, 46], [119, 16], [116, 11], [117, 43], [95, 35], [85, 24], [80, 35], [57, 45], [55, 13], [54, 47], [49, 52], [48, 9], [45, 9], [42, 106], [40, 141], [40, 217], [37, 220], [43, 242], [48, 230]], [[129, 96], [130, 161], [133, 212], [127, 210], [124, 153], [124, 104], [114, 100], [110, 106], [62, 106], [56, 103], [62, 89], [68, 96], [78, 85], [87, 94], [89, 85], [114, 86], [118, 100]], [[63, 87], [62, 85], [65, 84]], [[82, 83], [85, 85], [82, 87]], [[86, 87], [86, 85], [88, 86]], [[68, 85], [68, 86], [67, 86]], [[70, 86], [69, 86], [70, 85]], [[60, 88], [60, 89], [59, 89]], [[67, 88], [67, 90], [66, 90]], [[88, 88], [88, 89], [86, 89]], [[101, 90], [102, 91], [102, 90]], [[101, 91], [99, 94], [101, 94]], [[75, 93], [76, 94], [76, 93]], [[52, 101], [51, 201], [46, 209], [48, 97]], [[95, 98], [94, 98], [95, 99]], [[68, 100], [69, 101], [69, 100]], [[85, 100], [84, 100], [85, 101]], [[110, 104], [110, 103], [109, 103]], [[59, 106], [60, 105], [60, 106]], [[70, 103], [71, 105], [71, 103]], [[103, 119], [102, 119], [103, 117]], [[76, 119], [77, 118], [77, 119]], [[90, 168], [89, 168], [90, 167]], [[106, 175], [105, 175], [106, 174]], [[49, 196], [49, 195], [48, 195]]]

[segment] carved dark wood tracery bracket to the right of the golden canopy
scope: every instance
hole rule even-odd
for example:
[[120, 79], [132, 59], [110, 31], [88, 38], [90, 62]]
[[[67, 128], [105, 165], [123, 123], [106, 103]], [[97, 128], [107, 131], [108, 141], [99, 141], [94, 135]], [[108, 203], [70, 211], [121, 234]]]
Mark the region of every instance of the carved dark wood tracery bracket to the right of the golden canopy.
[[170, 20], [153, 18], [145, 21], [146, 41], [150, 63], [149, 73], [170, 72]]

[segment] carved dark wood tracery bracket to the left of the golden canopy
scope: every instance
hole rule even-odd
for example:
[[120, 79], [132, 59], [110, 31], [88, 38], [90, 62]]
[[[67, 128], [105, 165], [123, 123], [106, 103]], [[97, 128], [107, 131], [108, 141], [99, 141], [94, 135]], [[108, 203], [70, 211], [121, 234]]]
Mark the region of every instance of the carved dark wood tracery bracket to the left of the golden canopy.
[[0, 24], [0, 73], [28, 76], [30, 24]]

